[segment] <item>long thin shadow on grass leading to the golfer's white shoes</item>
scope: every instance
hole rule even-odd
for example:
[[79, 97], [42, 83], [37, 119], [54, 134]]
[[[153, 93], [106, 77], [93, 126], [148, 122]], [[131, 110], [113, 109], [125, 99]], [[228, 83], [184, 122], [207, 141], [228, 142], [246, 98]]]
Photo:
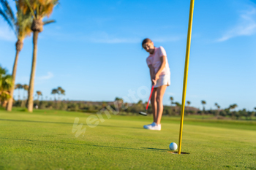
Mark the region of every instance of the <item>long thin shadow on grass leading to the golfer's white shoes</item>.
[[[74, 123], [67, 123], [67, 122], [45, 122], [45, 121], [35, 121], [35, 120], [14, 120], [14, 119], [0, 119], [0, 121], [12, 121], [12, 122], [29, 122], [29, 123], [53, 123], [53, 124], [64, 124], [64, 125], [73, 125]], [[83, 124], [87, 125], [87, 124]], [[97, 126], [104, 126], [104, 127], [116, 127], [116, 128], [135, 128], [129, 126], [117, 126], [117, 125], [97, 125]], [[142, 128], [137, 128], [142, 129]]]

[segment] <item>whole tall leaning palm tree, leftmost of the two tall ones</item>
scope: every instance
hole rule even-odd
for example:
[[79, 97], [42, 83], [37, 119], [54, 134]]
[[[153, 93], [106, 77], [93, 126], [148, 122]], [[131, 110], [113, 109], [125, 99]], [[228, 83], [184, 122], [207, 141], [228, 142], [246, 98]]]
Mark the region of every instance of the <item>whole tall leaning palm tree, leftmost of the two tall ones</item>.
[[[26, 36], [29, 36], [31, 34], [31, 23], [32, 23], [32, 17], [28, 13], [23, 13], [18, 4], [20, 0], [15, 0], [17, 13], [14, 15], [14, 12], [12, 8], [10, 7], [10, 4], [7, 0], [0, 0], [0, 4], [2, 9], [0, 8], [0, 15], [4, 20], [7, 22], [7, 24], [12, 28], [12, 30], [15, 33], [15, 36], [17, 38], [17, 42], [15, 44], [16, 46], [16, 54], [15, 54], [15, 61], [12, 68], [12, 83], [15, 84], [15, 78], [16, 78], [16, 72], [17, 72], [17, 65], [18, 65], [18, 57], [19, 53], [22, 50], [23, 47], [23, 40], [26, 38]], [[15, 86], [12, 86], [12, 89], [10, 89], [10, 99], [7, 104], [7, 111], [12, 111], [12, 103], [13, 103], [13, 92], [15, 90]]]

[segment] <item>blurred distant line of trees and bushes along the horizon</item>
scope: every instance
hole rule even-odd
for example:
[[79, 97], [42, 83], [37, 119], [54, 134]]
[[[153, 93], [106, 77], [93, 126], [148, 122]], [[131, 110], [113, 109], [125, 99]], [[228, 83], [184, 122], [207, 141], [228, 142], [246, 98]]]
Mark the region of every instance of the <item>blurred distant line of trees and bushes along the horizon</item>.
[[[59, 89], [59, 90], [58, 90]], [[56, 88], [52, 90], [52, 94], [61, 95], [61, 88]], [[120, 111], [120, 115], [138, 115], [138, 112], [146, 109], [146, 102], [138, 101], [136, 104], [128, 104], [124, 103], [122, 98], [115, 98], [114, 101], [118, 101], [118, 110]], [[34, 101], [34, 107], [38, 109], [58, 109], [58, 110], [67, 110], [67, 111], [75, 111], [75, 112], [89, 112], [89, 113], [96, 113], [100, 109], [105, 107], [112, 107], [113, 109], [116, 108], [114, 101], [100, 101], [100, 102], [93, 102], [93, 101], [68, 101], [68, 100], [59, 100], [55, 97], [54, 101], [51, 100], [37, 100]], [[14, 106], [20, 107], [22, 101], [15, 101]], [[232, 119], [246, 119], [252, 120], [252, 117], [256, 117], [255, 112], [249, 112], [246, 109], [241, 109], [236, 111], [237, 104], [231, 104], [230, 107], [225, 109], [220, 109], [219, 105], [216, 103], [216, 109], [209, 109], [206, 110], [204, 107], [203, 109], [197, 109], [195, 107], [190, 107], [191, 102], [187, 101], [187, 106], [185, 107], [185, 115], [211, 115], [218, 119], [225, 119], [225, 118], [232, 118]], [[206, 104], [206, 101], [202, 102], [202, 104]], [[127, 109], [123, 106], [128, 106]], [[254, 108], [256, 111], [256, 107]], [[148, 107], [148, 114], [152, 113], [151, 105]], [[181, 104], [178, 102], [172, 102], [171, 106], [165, 106], [163, 110], [163, 115], [167, 116], [179, 116], [181, 114]]]

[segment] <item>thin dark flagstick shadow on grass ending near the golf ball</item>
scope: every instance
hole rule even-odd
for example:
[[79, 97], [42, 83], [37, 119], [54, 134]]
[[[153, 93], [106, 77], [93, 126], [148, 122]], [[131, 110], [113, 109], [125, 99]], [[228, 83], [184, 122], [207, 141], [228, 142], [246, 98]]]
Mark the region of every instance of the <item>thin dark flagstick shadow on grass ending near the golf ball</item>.
[[[27, 142], [45, 142], [45, 143], [53, 143], [53, 144], [78, 144], [78, 143], [69, 143], [69, 142], [52, 142], [52, 141], [40, 141], [40, 140], [31, 140], [31, 139], [13, 139], [13, 138], [4, 138], [4, 137], [0, 137], [0, 139], [19, 140], [19, 141], [27, 141]], [[101, 146], [96, 144], [78, 144], [78, 145], [91, 146], [91, 147], [107, 147], [107, 148], [122, 149], [122, 150], [146, 150], [146, 151], [154, 151], [154, 152], [165, 152], [165, 150], [163, 149], [156, 149], [156, 148], [149, 148], [149, 147], [141, 147], [141, 149], [137, 149], [137, 148], [129, 148], [129, 147]]]

